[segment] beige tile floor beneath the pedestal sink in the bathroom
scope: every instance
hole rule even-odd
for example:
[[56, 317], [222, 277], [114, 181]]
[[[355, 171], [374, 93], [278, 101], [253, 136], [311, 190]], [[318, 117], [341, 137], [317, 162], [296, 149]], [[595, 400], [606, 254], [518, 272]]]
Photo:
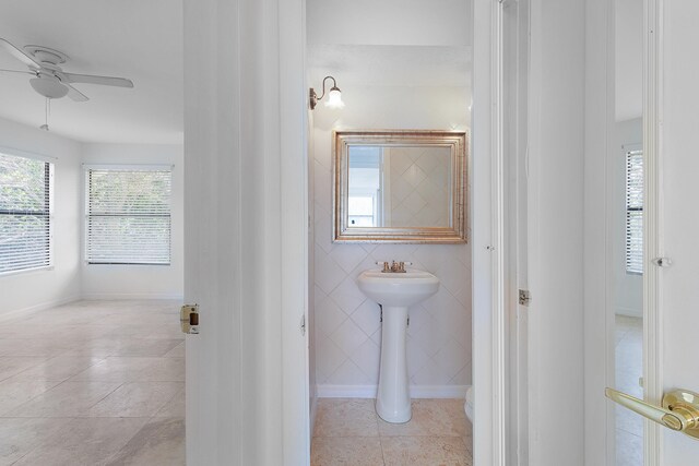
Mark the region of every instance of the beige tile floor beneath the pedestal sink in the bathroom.
[[318, 401], [311, 466], [472, 466], [463, 399], [413, 399], [403, 425], [380, 419], [374, 399]]

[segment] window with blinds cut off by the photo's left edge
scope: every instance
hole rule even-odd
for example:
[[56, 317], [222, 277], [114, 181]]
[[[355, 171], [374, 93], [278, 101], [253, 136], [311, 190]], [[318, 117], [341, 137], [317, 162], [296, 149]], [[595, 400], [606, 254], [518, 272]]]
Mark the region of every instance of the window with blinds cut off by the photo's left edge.
[[0, 273], [51, 265], [48, 162], [0, 153]]

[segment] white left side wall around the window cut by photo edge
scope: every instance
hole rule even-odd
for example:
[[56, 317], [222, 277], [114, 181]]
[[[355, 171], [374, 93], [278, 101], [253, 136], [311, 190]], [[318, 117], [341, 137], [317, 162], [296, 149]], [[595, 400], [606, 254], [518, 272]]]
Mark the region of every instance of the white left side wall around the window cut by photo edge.
[[55, 157], [54, 266], [0, 276], [0, 314], [79, 299], [81, 145], [52, 133], [0, 119], [0, 146]]

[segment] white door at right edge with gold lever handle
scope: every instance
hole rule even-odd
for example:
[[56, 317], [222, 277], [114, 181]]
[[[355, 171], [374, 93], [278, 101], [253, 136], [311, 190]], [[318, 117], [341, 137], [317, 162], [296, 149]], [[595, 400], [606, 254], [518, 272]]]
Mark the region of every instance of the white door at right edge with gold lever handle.
[[[665, 391], [699, 392], [696, 334], [699, 327], [699, 216], [692, 204], [699, 199], [696, 157], [699, 88], [691, 76], [699, 74], [696, 57], [699, 34], [695, 21], [699, 3], [692, 0], [659, 2], [662, 67], [660, 69], [661, 124], [659, 162], [661, 206], [660, 253], [673, 265], [660, 270], [660, 380]], [[694, 214], [692, 214], [694, 212]], [[699, 463], [699, 441], [663, 430], [661, 465]]]

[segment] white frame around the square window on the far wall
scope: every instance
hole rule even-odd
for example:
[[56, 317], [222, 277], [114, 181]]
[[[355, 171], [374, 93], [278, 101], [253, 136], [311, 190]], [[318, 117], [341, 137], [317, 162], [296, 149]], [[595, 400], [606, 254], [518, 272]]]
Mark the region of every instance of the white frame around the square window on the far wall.
[[[90, 266], [170, 266], [173, 264], [173, 171], [174, 165], [138, 165], [138, 164], [83, 164], [83, 193], [84, 193], [84, 232], [83, 232], [83, 260]], [[90, 258], [90, 171], [91, 170], [115, 170], [115, 171], [169, 171], [170, 172], [170, 235], [168, 239], [168, 262], [167, 263], [142, 263], [142, 262], [93, 262]]]

